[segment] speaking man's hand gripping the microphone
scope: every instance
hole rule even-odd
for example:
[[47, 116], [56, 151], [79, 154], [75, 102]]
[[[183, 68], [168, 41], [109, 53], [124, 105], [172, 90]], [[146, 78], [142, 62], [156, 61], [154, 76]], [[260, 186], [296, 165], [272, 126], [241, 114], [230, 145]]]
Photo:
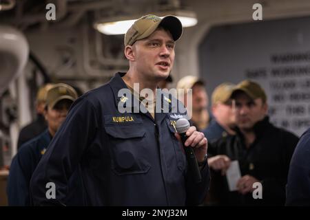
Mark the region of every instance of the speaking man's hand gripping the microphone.
[[[175, 133], [176, 138], [180, 140], [180, 135]], [[198, 162], [203, 162], [205, 159], [205, 155], [207, 154], [208, 142], [207, 138], [202, 132], [196, 131], [195, 126], [189, 127], [186, 131], [187, 140], [185, 142], [185, 146], [191, 146], [194, 148], [194, 153], [196, 155]]]

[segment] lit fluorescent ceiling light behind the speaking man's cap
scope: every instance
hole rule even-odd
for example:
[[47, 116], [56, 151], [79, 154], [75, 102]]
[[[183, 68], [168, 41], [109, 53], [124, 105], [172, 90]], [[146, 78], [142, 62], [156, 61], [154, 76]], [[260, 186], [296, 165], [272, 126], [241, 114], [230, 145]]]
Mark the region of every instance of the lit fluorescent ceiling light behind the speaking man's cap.
[[[152, 13], [149, 13], [152, 14]], [[156, 13], [155, 13], [156, 14]], [[157, 13], [158, 14], [158, 13]], [[163, 13], [161, 13], [163, 14]], [[168, 12], [165, 14], [171, 14], [174, 15], [176, 17], [178, 17], [178, 19], [180, 19], [180, 22], [182, 23], [184, 28], [187, 27], [192, 27], [194, 25], [196, 25], [197, 23], [197, 19], [196, 16], [193, 12], [189, 13], [185, 13], [185, 12]], [[163, 17], [161, 17], [163, 18]], [[116, 34], [125, 34], [127, 32], [127, 30], [130, 28], [130, 26], [134, 23], [135, 20], [125, 20], [125, 19], [117, 19], [116, 21], [102, 21], [102, 22], [96, 22], [94, 24], [94, 28], [96, 30], [98, 30], [99, 32], [103, 33], [103, 34], [107, 34], [107, 35], [116, 35]]]

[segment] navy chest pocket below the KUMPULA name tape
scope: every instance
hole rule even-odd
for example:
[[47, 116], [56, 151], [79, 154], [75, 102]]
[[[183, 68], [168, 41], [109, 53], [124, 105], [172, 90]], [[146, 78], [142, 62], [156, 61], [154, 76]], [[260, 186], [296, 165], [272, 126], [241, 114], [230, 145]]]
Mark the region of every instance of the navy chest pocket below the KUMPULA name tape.
[[147, 173], [150, 164], [145, 157], [146, 131], [142, 120], [124, 124], [105, 123], [105, 132], [110, 138], [112, 170], [116, 175]]

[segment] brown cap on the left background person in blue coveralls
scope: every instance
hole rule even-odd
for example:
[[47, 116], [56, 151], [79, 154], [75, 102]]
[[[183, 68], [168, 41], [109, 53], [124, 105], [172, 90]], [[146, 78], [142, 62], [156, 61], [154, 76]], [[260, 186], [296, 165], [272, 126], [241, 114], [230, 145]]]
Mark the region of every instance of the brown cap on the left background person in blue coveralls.
[[73, 102], [78, 98], [76, 91], [65, 83], [55, 84], [51, 89], [48, 90], [46, 95], [46, 104], [51, 109], [57, 102], [63, 99], [72, 100]]

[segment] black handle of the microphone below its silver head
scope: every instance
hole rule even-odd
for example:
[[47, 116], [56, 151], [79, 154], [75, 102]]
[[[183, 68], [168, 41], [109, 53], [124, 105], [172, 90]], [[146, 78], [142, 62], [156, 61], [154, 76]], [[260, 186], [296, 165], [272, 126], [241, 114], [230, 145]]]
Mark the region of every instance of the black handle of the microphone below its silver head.
[[201, 181], [201, 175], [198, 162], [194, 153], [194, 149], [192, 148], [192, 146], [185, 146], [185, 141], [187, 140], [187, 135], [185, 133], [180, 133], [180, 137], [182, 140], [183, 148], [187, 159], [189, 175], [192, 175], [192, 178], [194, 179], [195, 183], [198, 184]]

